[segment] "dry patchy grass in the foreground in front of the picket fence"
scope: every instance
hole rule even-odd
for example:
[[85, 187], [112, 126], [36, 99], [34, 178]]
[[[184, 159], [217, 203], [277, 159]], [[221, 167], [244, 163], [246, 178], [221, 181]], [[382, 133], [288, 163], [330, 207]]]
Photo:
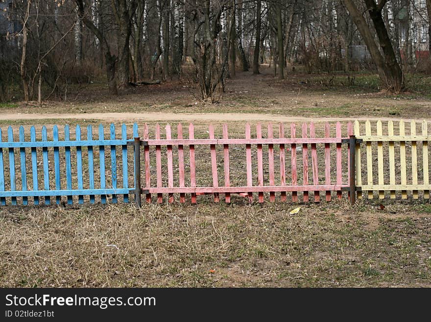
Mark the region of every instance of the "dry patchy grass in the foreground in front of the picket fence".
[[431, 286], [429, 204], [291, 207], [3, 207], [0, 285]]

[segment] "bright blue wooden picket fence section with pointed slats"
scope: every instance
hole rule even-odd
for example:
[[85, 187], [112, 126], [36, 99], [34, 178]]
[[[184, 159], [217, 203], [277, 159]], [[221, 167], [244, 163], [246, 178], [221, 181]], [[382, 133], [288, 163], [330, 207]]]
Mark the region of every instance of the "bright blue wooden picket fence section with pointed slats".
[[[92, 125], [87, 126], [86, 140], [82, 139], [79, 125], [75, 128], [75, 140], [71, 140], [70, 133], [70, 126], [65, 125], [64, 140], [60, 140], [58, 126], [54, 125], [52, 140], [48, 140], [46, 126], [42, 127], [39, 138], [36, 128], [31, 126], [30, 140], [26, 141], [24, 126], [20, 126], [19, 141], [14, 141], [13, 129], [9, 126], [7, 142], [3, 142], [0, 128], [1, 205], [6, 204], [6, 198], [10, 198], [12, 205], [17, 204], [17, 198], [22, 198], [23, 205], [27, 205], [28, 197], [33, 197], [35, 205], [40, 203], [42, 197], [45, 204], [51, 203], [51, 197], [55, 197], [55, 202], [60, 204], [62, 196], [67, 197], [68, 204], [73, 203], [73, 196], [78, 196], [77, 200], [80, 204], [84, 203], [84, 197], [89, 198], [91, 203], [95, 203], [96, 196], [100, 197], [101, 203], [106, 203], [108, 195], [112, 196], [112, 203], [117, 203], [120, 195], [123, 196], [123, 202], [129, 202], [129, 194], [135, 192], [135, 187], [134, 183], [132, 187], [129, 186], [129, 181], [133, 181], [134, 173], [128, 171], [128, 166], [132, 163], [134, 166], [135, 161], [130, 157], [130, 153], [133, 153], [134, 139], [127, 138], [126, 125], [121, 126], [121, 139], [116, 138], [114, 124], [110, 125], [109, 139], [105, 139], [102, 124], [98, 126], [97, 139], [94, 139]], [[138, 125], [135, 123], [133, 137], [138, 136]], [[108, 154], [105, 147], [109, 150], [110, 162], [105, 160]], [[7, 151], [3, 152], [3, 149]], [[71, 153], [71, 149], [76, 150]], [[120, 156], [117, 156], [118, 149], [121, 151]], [[53, 167], [50, 161], [52, 154]], [[17, 167], [18, 159], [20, 164]], [[83, 164], [83, 161], [88, 165]], [[120, 173], [117, 171], [119, 162], [121, 163]], [[99, 171], [96, 172], [99, 173], [98, 178], [95, 178], [96, 166], [99, 167]], [[118, 182], [119, 174], [122, 177], [122, 184]], [[30, 184], [28, 181], [31, 181]]]

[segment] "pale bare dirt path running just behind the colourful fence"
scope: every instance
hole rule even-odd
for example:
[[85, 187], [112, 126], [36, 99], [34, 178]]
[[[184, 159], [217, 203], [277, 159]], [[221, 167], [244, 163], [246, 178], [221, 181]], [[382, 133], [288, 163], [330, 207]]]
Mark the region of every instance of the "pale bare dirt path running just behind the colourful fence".
[[[1, 114], [0, 120], [103, 120], [103, 121], [216, 121], [216, 122], [256, 122], [256, 121], [273, 121], [273, 122], [335, 122], [349, 120], [401, 120], [400, 118], [383, 118], [383, 117], [289, 117], [271, 114], [257, 113], [81, 113], [81, 114]], [[431, 119], [427, 119], [431, 120]]]

